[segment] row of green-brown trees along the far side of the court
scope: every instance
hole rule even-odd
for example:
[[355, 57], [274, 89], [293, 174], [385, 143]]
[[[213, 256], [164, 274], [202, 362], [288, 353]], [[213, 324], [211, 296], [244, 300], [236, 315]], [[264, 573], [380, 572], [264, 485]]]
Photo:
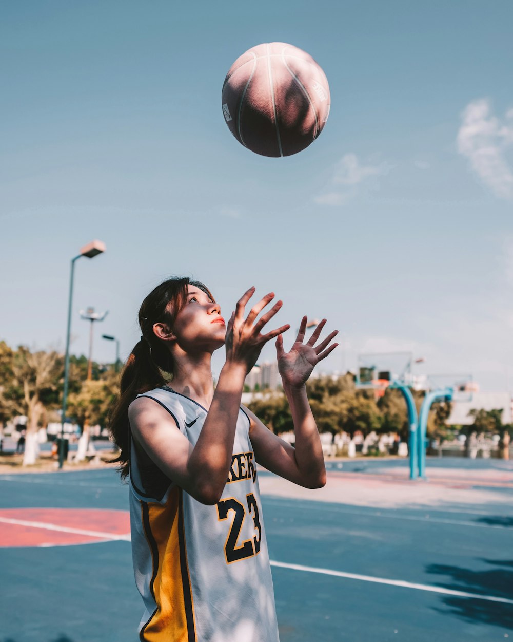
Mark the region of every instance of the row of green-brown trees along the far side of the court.
[[[26, 415], [26, 443], [38, 428], [51, 421], [60, 422], [63, 392], [64, 359], [60, 352], [33, 351], [26, 346], [10, 348], [0, 342], [0, 429], [18, 415]], [[399, 390], [386, 390], [376, 398], [373, 390], [359, 390], [352, 374], [320, 377], [307, 383], [319, 431], [345, 432], [353, 438], [359, 431], [368, 435], [396, 433], [401, 441], [408, 440], [407, 408]], [[119, 395], [119, 374], [114, 364], [93, 363], [92, 379], [87, 380], [87, 358], [71, 356], [67, 421], [80, 426], [106, 426], [108, 413]], [[425, 393], [413, 391], [419, 410]], [[282, 392], [267, 391], [254, 399], [249, 407], [275, 433], [293, 429], [287, 400]], [[428, 436], [439, 441], [453, 438], [458, 427], [448, 426], [450, 403], [435, 403], [428, 420]], [[464, 428], [468, 434], [499, 434], [501, 440], [512, 432], [501, 423], [501, 410], [475, 410], [473, 423]], [[461, 428], [461, 427], [459, 427]]]

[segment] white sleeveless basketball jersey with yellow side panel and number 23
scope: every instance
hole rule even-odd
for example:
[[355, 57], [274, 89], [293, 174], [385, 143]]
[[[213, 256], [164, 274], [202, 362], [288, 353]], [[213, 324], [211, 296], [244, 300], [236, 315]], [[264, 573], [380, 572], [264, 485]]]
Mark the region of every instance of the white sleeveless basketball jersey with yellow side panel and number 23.
[[[167, 386], [146, 392], [196, 444], [206, 410]], [[156, 469], [156, 467], [155, 467]], [[149, 642], [278, 642], [249, 419], [241, 409], [221, 499], [206, 506], [130, 454], [130, 519], [135, 581]], [[153, 479], [154, 483], [148, 482]]]

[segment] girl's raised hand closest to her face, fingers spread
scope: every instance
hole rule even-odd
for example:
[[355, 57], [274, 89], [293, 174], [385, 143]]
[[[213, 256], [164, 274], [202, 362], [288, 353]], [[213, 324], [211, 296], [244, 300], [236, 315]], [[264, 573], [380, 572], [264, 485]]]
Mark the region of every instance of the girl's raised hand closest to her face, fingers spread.
[[266, 312], [253, 325], [258, 314], [274, 299], [274, 292], [266, 294], [263, 299], [251, 308], [248, 318], [244, 320], [246, 304], [255, 293], [255, 287], [249, 288], [246, 293], [237, 301], [235, 311], [231, 313], [230, 320], [226, 326], [226, 363], [233, 365], [244, 365], [246, 374], [257, 363], [258, 356], [264, 344], [274, 339], [278, 334], [284, 333], [290, 325], [285, 324], [271, 330], [267, 334], [260, 334], [264, 325], [274, 317], [282, 307], [283, 302], [277, 301], [273, 308]]

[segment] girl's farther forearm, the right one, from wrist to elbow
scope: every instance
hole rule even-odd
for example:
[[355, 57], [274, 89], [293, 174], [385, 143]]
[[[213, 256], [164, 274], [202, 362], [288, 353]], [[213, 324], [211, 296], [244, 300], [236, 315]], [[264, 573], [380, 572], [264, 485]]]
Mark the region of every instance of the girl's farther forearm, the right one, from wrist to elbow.
[[284, 386], [283, 390], [289, 401], [296, 444], [294, 458], [301, 476], [310, 480], [312, 486], [323, 486], [326, 483], [326, 469], [319, 430], [310, 408], [307, 388]]

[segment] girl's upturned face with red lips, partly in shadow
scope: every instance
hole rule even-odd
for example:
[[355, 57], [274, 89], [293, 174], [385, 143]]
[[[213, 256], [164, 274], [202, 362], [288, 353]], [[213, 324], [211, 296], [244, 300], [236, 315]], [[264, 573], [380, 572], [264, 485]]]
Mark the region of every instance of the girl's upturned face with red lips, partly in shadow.
[[187, 286], [187, 300], [172, 327], [176, 343], [185, 352], [214, 351], [224, 345], [226, 324], [221, 307], [196, 286]]

